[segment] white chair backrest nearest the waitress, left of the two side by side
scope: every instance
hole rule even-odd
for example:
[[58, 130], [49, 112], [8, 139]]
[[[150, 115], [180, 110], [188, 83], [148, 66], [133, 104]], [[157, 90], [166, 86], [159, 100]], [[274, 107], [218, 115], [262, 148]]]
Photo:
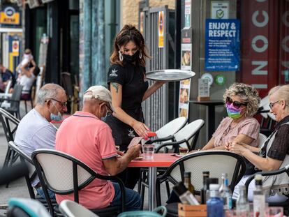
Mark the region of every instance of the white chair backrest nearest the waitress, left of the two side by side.
[[174, 135], [186, 125], [187, 119], [185, 117], [178, 117], [177, 119], [173, 119], [172, 121], [165, 124], [158, 130], [156, 130], [156, 136], [158, 138], [168, 137], [169, 135]]

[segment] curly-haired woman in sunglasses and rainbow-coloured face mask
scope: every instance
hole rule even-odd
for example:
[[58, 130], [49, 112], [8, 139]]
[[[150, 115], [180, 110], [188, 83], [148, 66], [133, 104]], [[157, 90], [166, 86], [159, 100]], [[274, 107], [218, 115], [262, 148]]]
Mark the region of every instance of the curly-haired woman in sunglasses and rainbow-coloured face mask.
[[227, 149], [229, 142], [258, 147], [260, 124], [253, 118], [260, 103], [258, 91], [248, 84], [234, 83], [225, 91], [223, 99], [228, 117], [221, 121], [203, 149]]

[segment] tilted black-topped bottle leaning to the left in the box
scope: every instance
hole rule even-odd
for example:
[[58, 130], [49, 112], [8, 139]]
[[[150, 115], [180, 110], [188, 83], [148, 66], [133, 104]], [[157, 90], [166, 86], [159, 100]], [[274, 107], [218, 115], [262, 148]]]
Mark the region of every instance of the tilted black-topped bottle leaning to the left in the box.
[[190, 191], [188, 191], [183, 182], [179, 182], [172, 189], [175, 190], [175, 193], [179, 196], [179, 200], [181, 200], [182, 204], [199, 205], [198, 200], [195, 199], [194, 195]]

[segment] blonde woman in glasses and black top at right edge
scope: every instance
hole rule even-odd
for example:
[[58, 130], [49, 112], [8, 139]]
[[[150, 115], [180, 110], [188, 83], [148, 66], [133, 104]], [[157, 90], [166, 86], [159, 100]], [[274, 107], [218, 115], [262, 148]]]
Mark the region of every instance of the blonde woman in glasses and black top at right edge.
[[[279, 170], [289, 165], [289, 85], [277, 86], [269, 91], [270, 112], [274, 114], [277, 124], [273, 133], [268, 137], [262, 147], [258, 149], [258, 156], [255, 148], [244, 142], [230, 142], [228, 149], [244, 156], [260, 171]], [[233, 198], [239, 195], [239, 186], [244, 185], [249, 176], [244, 176], [239, 184], [235, 186]], [[263, 189], [267, 193], [267, 202], [284, 202], [288, 200], [283, 193], [288, 192], [289, 177], [286, 173], [263, 178]], [[253, 199], [255, 182], [251, 181], [248, 190], [248, 197]], [[269, 194], [269, 195], [268, 195]]]

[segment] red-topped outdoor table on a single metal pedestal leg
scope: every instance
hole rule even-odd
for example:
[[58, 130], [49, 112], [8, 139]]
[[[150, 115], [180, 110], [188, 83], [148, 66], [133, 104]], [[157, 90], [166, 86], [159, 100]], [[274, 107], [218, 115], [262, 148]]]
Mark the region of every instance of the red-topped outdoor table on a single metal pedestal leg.
[[149, 211], [156, 208], [156, 168], [170, 167], [179, 157], [169, 154], [154, 154], [152, 159], [132, 160], [128, 167], [148, 167], [147, 179], [149, 181]]

